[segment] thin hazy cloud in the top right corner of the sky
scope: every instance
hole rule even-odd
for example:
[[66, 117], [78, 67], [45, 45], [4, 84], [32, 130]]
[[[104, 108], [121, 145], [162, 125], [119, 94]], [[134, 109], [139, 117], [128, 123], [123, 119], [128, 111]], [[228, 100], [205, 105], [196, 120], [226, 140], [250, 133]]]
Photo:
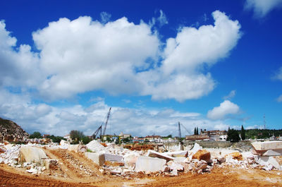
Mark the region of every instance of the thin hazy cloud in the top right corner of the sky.
[[282, 0], [247, 0], [245, 8], [253, 9], [256, 18], [263, 18], [270, 11], [282, 8]]

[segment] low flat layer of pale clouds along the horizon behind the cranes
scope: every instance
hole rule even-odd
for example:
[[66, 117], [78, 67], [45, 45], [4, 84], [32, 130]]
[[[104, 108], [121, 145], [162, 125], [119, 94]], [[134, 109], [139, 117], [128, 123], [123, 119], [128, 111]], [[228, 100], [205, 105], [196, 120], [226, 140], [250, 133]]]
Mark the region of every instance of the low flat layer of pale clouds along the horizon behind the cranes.
[[[31, 102], [30, 95], [18, 95], [0, 90], [0, 116], [16, 121], [27, 132], [39, 131], [54, 135], [66, 135], [71, 130], [80, 130], [92, 135], [105, 120], [109, 105], [104, 100], [89, 107], [75, 104], [69, 107], [53, 107]], [[210, 121], [195, 112], [173, 109], [130, 109], [112, 107], [106, 133], [130, 133], [131, 135], [177, 135], [180, 121], [192, 134], [195, 126], [206, 129], [226, 130], [224, 121]]]

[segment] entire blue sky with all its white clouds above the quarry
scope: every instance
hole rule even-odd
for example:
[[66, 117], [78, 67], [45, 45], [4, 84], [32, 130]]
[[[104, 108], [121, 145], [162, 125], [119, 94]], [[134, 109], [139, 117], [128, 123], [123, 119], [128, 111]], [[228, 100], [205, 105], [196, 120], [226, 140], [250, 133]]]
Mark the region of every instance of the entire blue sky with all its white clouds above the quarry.
[[0, 117], [27, 132], [281, 128], [282, 1], [1, 1]]

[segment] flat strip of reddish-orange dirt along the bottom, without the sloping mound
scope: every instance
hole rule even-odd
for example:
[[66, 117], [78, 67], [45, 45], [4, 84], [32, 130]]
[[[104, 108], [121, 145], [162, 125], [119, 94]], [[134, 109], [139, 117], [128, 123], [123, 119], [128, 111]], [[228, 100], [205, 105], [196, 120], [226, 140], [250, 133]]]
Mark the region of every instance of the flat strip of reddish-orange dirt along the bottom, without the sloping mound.
[[[104, 176], [106, 178], [106, 176]], [[103, 178], [104, 178], [103, 177]], [[111, 177], [109, 177], [111, 178]], [[97, 181], [86, 179], [85, 182], [75, 183], [48, 178], [47, 176], [32, 176], [18, 174], [8, 167], [0, 167], [0, 186], [282, 186], [282, 177], [276, 172], [260, 171], [253, 169], [214, 169], [212, 174], [182, 174], [175, 177], [143, 177], [141, 179], [125, 180], [111, 178], [110, 180]]]

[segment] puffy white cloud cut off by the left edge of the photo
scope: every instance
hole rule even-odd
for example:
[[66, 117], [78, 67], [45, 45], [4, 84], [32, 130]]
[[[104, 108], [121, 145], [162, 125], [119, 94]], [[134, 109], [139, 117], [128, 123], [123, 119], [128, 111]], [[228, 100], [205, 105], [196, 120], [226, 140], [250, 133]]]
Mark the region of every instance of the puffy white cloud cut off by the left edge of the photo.
[[[43, 79], [40, 77], [39, 58], [26, 44], [16, 46], [16, 37], [6, 30], [0, 21], [0, 86], [34, 88]], [[15, 49], [16, 48], [16, 49]]]

